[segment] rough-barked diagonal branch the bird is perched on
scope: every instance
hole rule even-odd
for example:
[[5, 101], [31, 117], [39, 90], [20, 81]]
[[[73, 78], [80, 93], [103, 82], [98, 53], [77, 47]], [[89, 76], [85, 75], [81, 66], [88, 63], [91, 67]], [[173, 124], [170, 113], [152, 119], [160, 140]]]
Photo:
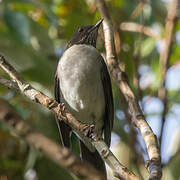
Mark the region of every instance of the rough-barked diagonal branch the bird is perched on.
[[[113, 170], [114, 175], [119, 179], [136, 180], [138, 179], [132, 172], [130, 172], [126, 167], [124, 167], [113, 153], [109, 150], [106, 143], [102, 138], [98, 137], [93, 133], [92, 138], [87, 137], [86, 132], [83, 131], [86, 124], [82, 124], [77, 121], [67, 110], [58, 104], [55, 100], [50, 99], [48, 96], [44, 95], [40, 91], [33, 88], [29, 83], [27, 83], [20, 74], [5, 60], [3, 56], [0, 55], [0, 67], [10, 76], [11, 79], [17, 82], [19, 91], [36, 103], [40, 103], [42, 106], [46, 107], [51, 112], [55, 113], [60, 120], [70, 125], [74, 131], [81, 137], [83, 141], [92, 143], [92, 145], [99, 152], [100, 156]], [[9, 86], [8, 86], [9, 87]]]

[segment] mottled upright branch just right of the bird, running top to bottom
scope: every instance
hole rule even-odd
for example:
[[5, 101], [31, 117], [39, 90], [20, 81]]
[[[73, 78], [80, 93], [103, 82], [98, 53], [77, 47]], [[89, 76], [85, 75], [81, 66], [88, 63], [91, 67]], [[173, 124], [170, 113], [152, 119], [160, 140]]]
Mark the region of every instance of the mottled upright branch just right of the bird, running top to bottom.
[[128, 80], [124, 75], [125, 73], [122, 72], [118, 66], [118, 58], [115, 52], [114, 45], [113, 26], [105, 1], [96, 0], [96, 3], [101, 17], [104, 18], [103, 29], [105, 37], [106, 59], [109, 70], [113, 75], [114, 81], [116, 82], [128, 102], [132, 120], [136, 127], [139, 129], [147, 147], [147, 152], [150, 159], [147, 163], [147, 167], [150, 172], [149, 179], [161, 179], [161, 157], [159, 153], [157, 137], [154, 135], [151, 127], [146, 122], [144, 115], [139, 107], [138, 100], [133, 94], [128, 84]]

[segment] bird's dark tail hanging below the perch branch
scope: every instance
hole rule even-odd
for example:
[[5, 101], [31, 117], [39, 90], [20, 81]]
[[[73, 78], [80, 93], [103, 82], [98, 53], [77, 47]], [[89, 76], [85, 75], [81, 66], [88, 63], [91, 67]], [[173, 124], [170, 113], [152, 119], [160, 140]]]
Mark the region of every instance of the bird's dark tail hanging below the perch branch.
[[84, 145], [82, 141], [80, 141], [80, 149], [82, 160], [89, 162], [95, 169], [99, 170], [100, 172], [102, 172], [102, 174], [107, 176], [105, 163], [97, 150], [95, 152], [89, 151], [89, 149]]

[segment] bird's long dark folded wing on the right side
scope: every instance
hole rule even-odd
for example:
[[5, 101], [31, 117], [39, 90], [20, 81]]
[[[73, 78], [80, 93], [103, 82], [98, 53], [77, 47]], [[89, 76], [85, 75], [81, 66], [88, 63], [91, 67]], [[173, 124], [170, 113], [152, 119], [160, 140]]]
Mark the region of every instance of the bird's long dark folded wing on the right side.
[[101, 80], [102, 80], [104, 96], [105, 96], [104, 139], [106, 144], [110, 146], [111, 130], [113, 128], [113, 121], [114, 121], [114, 102], [113, 102], [112, 86], [111, 86], [111, 79], [109, 76], [109, 72], [102, 56], [100, 60], [102, 63]]

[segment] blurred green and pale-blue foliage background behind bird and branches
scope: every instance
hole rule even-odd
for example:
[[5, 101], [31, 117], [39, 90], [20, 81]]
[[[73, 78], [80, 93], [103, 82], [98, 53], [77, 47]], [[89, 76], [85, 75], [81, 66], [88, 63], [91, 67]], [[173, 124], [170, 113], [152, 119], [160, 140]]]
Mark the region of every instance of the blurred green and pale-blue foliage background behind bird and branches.
[[[126, 71], [145, 117], [159, 139], [162, 179], [180, 180], [180, 20], [174, 22], [165, 79], [165, 102], [158, 95], [161, 86], [159, 55], [164, 42], [161, 38], [122, 30], [121, 25], [124, 22], [135, 22], [152, 28], [164, 37], [171, 0], [106, 2], [113, 19], [119, 64]], [[0, 53], [35, 88], [53, 97], [54, 73], [67, 41], [79, 26], [94, 24], [99, 19], [100, 14], [93, 0], [0, 0]], [[102, 28], [97, 48], [105, 53]], [[1, 69], [0, 76], [8, 78]], [[144, 141], [131, 126], [127, 103], [115, 83], [112, 83], [115, 125], [111, 149], [120, 162], [147, 179], [144, 162], [148, 157]], [[59, 143], [58, 129], [51, 113], [2, 86], [0, 98], [8, 101], [34, 128]], [[164, 103], [167, 103], [167, 111], [165, 123], [162, 123]], [[74, 151], [78, 153], [75, 136], [72, 141]], [[67, 170], [58, 167], [22, 139], [15, 137], [6, 124], [0, 123], [1, 180], [73, 178]]]

